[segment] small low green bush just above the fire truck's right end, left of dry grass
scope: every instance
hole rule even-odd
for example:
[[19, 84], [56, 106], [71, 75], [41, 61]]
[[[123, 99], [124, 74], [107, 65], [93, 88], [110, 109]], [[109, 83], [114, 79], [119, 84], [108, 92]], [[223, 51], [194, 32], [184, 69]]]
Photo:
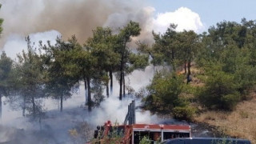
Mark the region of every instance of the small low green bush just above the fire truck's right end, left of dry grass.
[[173, 110], [174, 118], [186, 121], [192, 121], [195, 113], [196, 109], [192, 106], [177, 106]]

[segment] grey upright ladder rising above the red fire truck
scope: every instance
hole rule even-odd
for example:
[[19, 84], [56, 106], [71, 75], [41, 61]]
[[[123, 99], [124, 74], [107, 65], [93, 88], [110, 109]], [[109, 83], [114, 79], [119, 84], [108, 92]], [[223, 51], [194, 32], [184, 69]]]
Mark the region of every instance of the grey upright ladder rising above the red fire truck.
[[136, 123], [135, 118], [135, 101], [133, 100], [130, 105], [128, 106], [128, 112], [126, 114], [125, 122], [123, 122], [124, 125], [127, 125], [127, 122], [129, 122], [129, 125]]

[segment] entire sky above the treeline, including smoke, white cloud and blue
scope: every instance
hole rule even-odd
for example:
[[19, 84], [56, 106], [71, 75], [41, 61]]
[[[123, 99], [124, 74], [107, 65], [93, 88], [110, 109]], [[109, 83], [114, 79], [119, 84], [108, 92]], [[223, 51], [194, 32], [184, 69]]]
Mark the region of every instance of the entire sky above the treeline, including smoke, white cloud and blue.
[[0, 52], [11, 58], [26, 50], [25, 37], [31, 41], [50, 40], [57, 36], [86, 42], [96, 26], [118, 30], [130, 20], [139, 22], [142, 42], [152, 43], [152, 30], [164, 33], [170, 23], [176, 30], [194, 30], [200, 34], [217, 22], [241, 22], [256, 19], [254, 0], [0, 0], [0, 18], [4, 18]]

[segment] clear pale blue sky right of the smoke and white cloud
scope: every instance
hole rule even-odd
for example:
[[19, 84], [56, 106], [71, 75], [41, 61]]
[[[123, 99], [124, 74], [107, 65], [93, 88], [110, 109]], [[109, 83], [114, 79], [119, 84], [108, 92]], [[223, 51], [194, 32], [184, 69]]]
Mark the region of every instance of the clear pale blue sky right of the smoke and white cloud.
[[256, 19], [255, 0], [148, 0], [157, 13], [166, 13], [186, 7], [199, 14], [206, 28], [216, 25], [217, 22], [241, 22]]

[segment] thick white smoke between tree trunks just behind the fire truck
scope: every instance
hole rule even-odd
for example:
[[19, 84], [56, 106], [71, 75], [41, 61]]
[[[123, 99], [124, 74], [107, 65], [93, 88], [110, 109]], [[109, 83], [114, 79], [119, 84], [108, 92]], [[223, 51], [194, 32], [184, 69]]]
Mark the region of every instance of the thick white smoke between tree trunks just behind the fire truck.
[[[154, 76], [154, 66], [147, 66], [145, 71], [135, 70], [130, 76], [126, 77], [130, 86], [135, 91], [142, 89], [150, 84], [150, 79]], [[118, 82], [114, 82], [114, 92], [110, 98], [106, 98], [101, 106], [94, 109], [86, 120], [93, 125], [102, 125], [107, 120], [122, 124], [126, 118], [128, 105], [134, 100], [134, 97], [126, 96], [122, 101], [118, 99]], [[141, 106], [141, 100], [135, 101], [136, 106]], [[150, 111], [135, 110], [137, 123], [158, 123], [159, 118], [151, 115]]]

